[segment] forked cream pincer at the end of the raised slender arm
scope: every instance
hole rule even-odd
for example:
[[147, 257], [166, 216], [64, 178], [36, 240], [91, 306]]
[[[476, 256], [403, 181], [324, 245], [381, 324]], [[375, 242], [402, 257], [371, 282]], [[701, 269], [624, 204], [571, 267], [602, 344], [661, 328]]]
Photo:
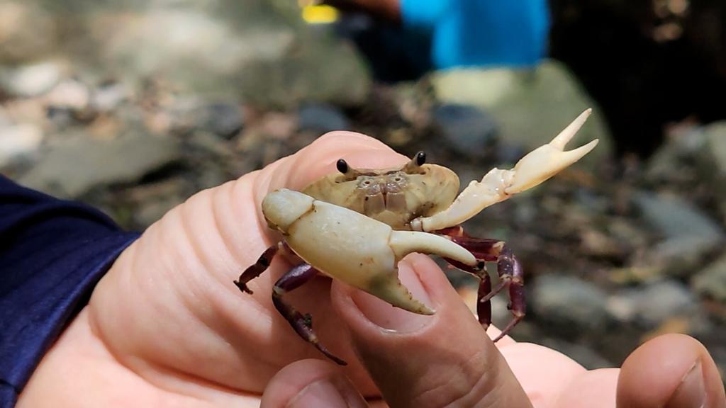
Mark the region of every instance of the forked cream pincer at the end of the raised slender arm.
[[574, 150], [565, 150], [566, 144], [582, 128], [590, 113], [592, 109], [585, 110], [565, 130], [555, 136], [552, 142], [538, 147], [519, 160], [513, 168], [512, 184], [505, 189], [505, 192], [515, 194], [537, 186], [595, 149], [598, 139]]

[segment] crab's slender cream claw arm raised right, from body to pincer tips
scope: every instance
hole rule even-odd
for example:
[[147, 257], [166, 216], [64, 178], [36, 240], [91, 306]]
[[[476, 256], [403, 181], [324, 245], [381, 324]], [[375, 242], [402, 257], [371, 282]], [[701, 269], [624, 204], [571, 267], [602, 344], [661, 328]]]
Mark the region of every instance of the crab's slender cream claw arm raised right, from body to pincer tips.
[[524, 156], [511, 170], [493, 168], [481, 181], [471, 181], [449, 208], [430, 217], [411, 221], [415, 231], [436, 231], [462, 224], [484, 208], [507, 200], [512, 195], [537, 186], [564, 168], [580, 160], [597, 145], [597, 139], [574, 150], [564, 150], [582, 127], [591, 109], [585, 110], [552, 142]]

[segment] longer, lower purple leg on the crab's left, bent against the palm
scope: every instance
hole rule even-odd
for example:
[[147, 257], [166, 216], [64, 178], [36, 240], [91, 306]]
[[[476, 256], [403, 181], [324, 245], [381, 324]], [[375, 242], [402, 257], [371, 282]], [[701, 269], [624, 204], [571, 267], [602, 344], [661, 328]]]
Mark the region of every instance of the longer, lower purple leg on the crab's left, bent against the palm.
[[322, 354], [325, 354], [329, 359], [340, 365], [347, 365], [345, 361], [339, 359], [330, 353], [330, 351], [320, 344], [317, 335], [313, 331], [312, 318], [309, 314], [301, 314], [297, 309], [285, 302], [282, 299], [282, 295], [292, 290], [301, 287], [306, 282], [309, 282], [312, 278], [317, 275], [317, 270], [309, 264], [300, 264], [293, 269], [290, 269], [286, 274], [275, 282], [272, 288], [272, 303], [274, 303], [275, 309], [282, 314], [290, 326], [293, 327], [295, 332], [300, 335], [301, 338], [311, 343], [317, 348]]

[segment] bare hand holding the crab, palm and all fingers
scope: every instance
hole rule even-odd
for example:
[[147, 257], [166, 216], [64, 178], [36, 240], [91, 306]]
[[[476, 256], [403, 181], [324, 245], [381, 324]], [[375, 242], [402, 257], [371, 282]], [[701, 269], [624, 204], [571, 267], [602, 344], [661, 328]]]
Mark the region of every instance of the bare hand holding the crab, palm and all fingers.
[[18, 407], [362, 407], [362, 396], [392, 407], [726, 407], [713, 360], [687, 336], [646, 343], [622, 370], [590, 372], [542, 346], [510, 338], [494, 346], [420, 255], [399, 273], [436, 309], [431, 317], [327, 278], [286, 295], [349, 364], [323, 361], [272, 305], [289, 264], [278, 258], [250, 281], [253, 295], [233, 280], [279, 240], [261, 216], [267, 192], [301, 189], [340, 158], [365, 168], [407, 161], [375, 139], [334, 132], [189, 198], [122, 253]]

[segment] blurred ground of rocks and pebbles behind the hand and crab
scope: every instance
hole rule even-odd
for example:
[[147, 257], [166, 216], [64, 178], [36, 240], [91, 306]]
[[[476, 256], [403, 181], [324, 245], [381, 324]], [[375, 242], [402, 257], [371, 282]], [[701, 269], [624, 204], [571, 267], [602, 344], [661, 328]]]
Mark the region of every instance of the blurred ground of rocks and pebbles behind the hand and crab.
[[[0, 2], [2, 174], [144, 229], [326, 131], [425, 150], [468, 181], [592, 106], [578, 138], [601, 139], [590, 157], [467, 225], [507, 240], [526, 268], [529, 315], [515, 338], [607, 367], [685, 332], [726, 370], [726, 123], [677, 123], [650, 159], [613, 158], [596, 102], [558, 62], [382, 85], [285, 2], [249, 1], [244, 15], [224, 0], [128, 3]], [[475, 282], [452, 281], [473, 303]], [[495, 302], [499, 325], [505, 304]]]

